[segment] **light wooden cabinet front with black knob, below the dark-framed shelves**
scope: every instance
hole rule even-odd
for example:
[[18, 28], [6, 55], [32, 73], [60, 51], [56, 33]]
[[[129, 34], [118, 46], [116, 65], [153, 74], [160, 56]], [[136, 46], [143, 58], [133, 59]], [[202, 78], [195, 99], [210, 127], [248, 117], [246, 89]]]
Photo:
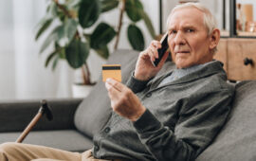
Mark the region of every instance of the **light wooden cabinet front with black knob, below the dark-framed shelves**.
[[256, 39], [222, 38], [214, 59], [224, 63], [229, 80], [256, 80]]

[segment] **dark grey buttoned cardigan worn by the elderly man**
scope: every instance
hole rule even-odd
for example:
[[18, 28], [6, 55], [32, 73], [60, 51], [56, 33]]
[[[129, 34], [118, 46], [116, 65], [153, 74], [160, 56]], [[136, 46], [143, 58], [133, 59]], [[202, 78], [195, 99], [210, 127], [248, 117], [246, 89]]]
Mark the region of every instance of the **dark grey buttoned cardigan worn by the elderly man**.
[[230, 112], [234, 88], [219, 62], [158, 86], [167, 73], [150, 81], [127, 82], [147, 108], [136, 122], [113, 113], [94, 136], [96, 158], [194, 160], [218, 134]]

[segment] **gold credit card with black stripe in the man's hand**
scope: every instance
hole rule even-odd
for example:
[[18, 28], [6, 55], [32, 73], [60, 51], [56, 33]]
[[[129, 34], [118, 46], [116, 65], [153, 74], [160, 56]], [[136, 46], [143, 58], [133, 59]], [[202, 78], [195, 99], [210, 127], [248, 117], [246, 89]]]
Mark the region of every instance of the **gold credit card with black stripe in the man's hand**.
[[120, 64], [103, 64], [102, 80], [105, 82], [108, 78], [121, 81], [121, 65]]

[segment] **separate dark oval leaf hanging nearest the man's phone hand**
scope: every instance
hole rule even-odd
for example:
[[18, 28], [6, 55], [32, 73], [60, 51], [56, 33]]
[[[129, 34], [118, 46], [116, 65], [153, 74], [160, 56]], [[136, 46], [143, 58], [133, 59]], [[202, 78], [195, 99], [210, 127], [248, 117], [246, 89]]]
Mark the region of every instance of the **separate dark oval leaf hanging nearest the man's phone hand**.
[[130, 25], [128, 27], [128, 40], [134, 49], [141, 51], [144, 49], [145, 43], [143, 34], [138, 27]]

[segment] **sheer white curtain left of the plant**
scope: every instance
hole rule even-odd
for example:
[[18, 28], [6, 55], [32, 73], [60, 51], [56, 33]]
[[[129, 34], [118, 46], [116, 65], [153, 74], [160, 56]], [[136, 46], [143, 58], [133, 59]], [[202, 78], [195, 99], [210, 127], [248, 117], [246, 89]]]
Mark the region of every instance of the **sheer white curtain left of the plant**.
[[74, 70], [60, 61], [55, 71], [39, 54], [45, 37], [35, 42], [36, 25], [46, 0], [0, 0], [0, 99], [68, 98]]

